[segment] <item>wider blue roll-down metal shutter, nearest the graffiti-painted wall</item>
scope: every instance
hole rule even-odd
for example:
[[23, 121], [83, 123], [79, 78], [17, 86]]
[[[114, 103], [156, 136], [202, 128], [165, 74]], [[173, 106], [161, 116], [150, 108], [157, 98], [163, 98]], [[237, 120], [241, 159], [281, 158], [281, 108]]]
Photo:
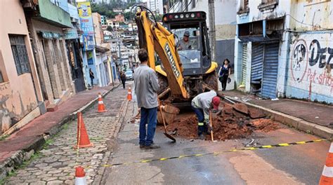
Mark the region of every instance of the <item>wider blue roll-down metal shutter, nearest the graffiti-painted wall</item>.
[[261, 95], [263, 97], [275, 98], [278, 78], [279, 43], [266, 44], [264, 55]]

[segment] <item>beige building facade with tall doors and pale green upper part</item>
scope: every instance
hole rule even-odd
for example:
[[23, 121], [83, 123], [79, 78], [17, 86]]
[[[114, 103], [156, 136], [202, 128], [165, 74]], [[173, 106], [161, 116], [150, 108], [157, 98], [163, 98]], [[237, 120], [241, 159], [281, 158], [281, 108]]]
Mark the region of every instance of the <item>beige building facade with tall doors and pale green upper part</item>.
[[58, 104], [75, 93], [63, 32], [63, 29], [72, 27], [70, 14], [48, 0], [26, 0], [22, 4], [43, 100], [48, 110], [54, 111]]

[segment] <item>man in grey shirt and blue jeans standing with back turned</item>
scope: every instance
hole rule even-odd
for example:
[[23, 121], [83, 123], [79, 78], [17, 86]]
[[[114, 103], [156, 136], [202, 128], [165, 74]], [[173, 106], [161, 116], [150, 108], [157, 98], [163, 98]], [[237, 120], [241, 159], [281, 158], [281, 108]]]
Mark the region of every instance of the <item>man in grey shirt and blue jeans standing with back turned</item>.
[[[157, 125], [157, 90], [159, 83], [154, 70], [148, 67], [148, 53], [145, 49], [138, 50], [140, 66], [135, 69], [134, 88], [138, 107], [141, 108], [139, 127], [140, 149], [158, 149], [153, 139]], [[147, 130], [145, 125], [148, 124]]]

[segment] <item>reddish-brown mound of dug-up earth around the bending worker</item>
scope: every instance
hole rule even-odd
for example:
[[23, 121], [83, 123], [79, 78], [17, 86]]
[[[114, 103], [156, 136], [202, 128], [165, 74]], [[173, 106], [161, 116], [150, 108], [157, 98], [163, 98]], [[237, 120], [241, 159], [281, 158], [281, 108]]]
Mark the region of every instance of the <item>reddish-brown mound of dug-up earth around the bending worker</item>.
[[[267, 118], [259, 109], [248, 108], [245, 104], [231, 105], [223, 102], [220, 115], [213, 114], [215, 140], [238, 139], [248, 137], [254, 131], [269, 132], [280, 128], [279, 123]], [[188, 109], [181, 109], [175, 121], [167, 125], [169, 132], [176, 130], [175, 136], [186, 139], [197, 138], [197, 117]], [[159, 130], [163, 130], [159, 126]], [[206, 136], [210, 140], [210, 135]]]

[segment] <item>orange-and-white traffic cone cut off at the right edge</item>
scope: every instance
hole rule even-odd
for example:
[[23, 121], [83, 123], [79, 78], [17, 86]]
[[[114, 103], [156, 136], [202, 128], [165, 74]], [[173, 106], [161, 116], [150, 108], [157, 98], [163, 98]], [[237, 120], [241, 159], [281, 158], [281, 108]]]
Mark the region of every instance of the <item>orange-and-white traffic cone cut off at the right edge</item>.
[[324, 170], [322, 170], [322, 177], [320, 177], [319, 185], [332, 185], [333, 184], [333, 142], [329, 147], [326, 158]]

